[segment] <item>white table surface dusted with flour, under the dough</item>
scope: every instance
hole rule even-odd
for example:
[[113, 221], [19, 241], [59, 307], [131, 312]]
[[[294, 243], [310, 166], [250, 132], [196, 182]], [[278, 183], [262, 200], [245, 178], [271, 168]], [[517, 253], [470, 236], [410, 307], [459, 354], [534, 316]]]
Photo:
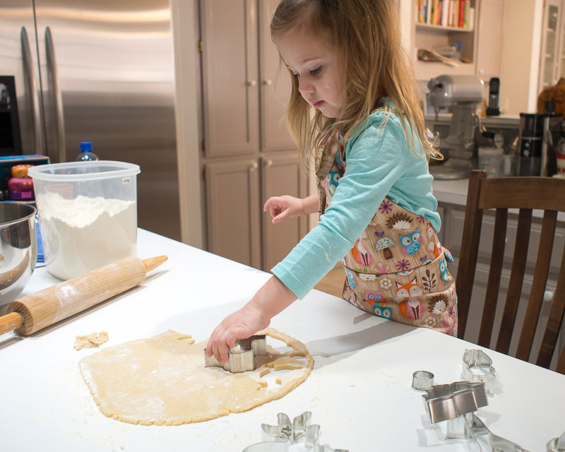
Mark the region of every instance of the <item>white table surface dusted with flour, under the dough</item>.
[[[287, 396], [248, 412], [181, 426], [138, 426], [97, 409], [78, 361], [76, 335], [108, 331], [109, 347], [174, 329], [196, 340], [246, 302], [267, 273], [157, 234], [139, 231], [141, 258], [169, 261], [124, 295], [28, 338], [0, 336], [1, 451], [242, 451], [261, 441], [261, 424], [277, 413], [312, 412], [321, 444], [364, 451], [466, 451], [444, 441], [444, 424], [429, 423], [412, 373], [429, 370], [436, 383], [460, 380], [461, 357], [477, 348], [426, 328], [385, 321], [342, 299], [313, 290], [271, 326], [293, 335], [314, 355], [311, 375]], [[57, 283], [37, 268], [22, 295]], [[529, 451], [545, 451], [565, 430], [565, 376], [487, 350], [499, 393], [477, 415], [494, 434]]]

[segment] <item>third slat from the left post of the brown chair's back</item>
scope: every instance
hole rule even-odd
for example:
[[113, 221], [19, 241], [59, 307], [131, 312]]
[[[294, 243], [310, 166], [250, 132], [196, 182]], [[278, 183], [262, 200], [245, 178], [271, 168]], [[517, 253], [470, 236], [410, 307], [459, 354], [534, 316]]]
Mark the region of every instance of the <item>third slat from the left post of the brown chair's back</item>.
[[557, 226], [557, 212], [555, 210], [545, 210], [542, 222], [542, 232], [540, 244], [537, 249], [537, 260], [535, 263], [534, 280], [528, 308], [525, 312], [524, 323], [518, 342], [516, 357], [528, 361], [532, 351], [537, 322], [540, 320], [540, 311], [549, 273], [549, 264], [552, 259], [553, 242], [555, 228]]

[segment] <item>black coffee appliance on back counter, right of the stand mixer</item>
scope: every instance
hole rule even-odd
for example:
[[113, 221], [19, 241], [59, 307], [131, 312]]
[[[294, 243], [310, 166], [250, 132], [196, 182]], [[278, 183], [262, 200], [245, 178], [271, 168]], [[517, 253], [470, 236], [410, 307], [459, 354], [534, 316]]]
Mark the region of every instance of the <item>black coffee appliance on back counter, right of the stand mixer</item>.
[[[554, 113], [521, 113], [518, 158], [519, 176], [555, 174], [554, 144], [561, 136], [561, 116]], [[556, 139], [557, 138], [557, 139]]]

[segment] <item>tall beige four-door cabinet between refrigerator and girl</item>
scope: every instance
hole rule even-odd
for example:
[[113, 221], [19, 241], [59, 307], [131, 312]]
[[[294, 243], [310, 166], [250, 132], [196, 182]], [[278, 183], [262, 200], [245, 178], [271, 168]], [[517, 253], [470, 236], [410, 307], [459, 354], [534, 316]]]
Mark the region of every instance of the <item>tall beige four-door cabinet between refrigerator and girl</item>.
[[284, 121], [290, 79], [268, 30], [277, 5], [200, 1], [207, 249], [264, 270], [307, 232], [305, 217], [272, 225], [263, 213], [269, 196], [307, 196]]

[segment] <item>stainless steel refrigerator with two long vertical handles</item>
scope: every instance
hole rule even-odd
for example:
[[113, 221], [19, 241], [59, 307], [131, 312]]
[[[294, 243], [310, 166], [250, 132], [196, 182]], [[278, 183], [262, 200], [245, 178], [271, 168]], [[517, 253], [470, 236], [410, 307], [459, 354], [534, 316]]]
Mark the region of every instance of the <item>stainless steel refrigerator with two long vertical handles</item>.
[[169, 0], [1, 0], [21, 151], [136, 163], [138, 225], [180, 239]]

